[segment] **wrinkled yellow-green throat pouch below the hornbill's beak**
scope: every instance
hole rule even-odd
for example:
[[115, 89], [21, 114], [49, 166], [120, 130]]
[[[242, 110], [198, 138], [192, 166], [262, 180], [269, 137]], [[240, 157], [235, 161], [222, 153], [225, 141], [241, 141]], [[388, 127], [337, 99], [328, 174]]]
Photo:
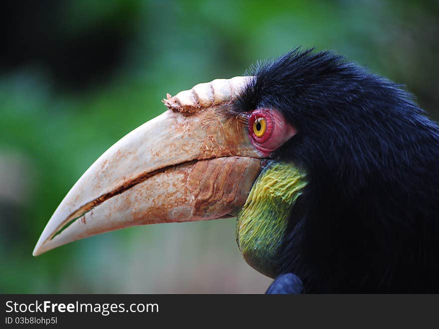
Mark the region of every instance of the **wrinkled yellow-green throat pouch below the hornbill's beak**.
[[236, 242], [242, 257], [270, 278], [277, 275], [288, 220], [306, 183], [306, 174], [294, 164], [270, 161], [236, 216]]

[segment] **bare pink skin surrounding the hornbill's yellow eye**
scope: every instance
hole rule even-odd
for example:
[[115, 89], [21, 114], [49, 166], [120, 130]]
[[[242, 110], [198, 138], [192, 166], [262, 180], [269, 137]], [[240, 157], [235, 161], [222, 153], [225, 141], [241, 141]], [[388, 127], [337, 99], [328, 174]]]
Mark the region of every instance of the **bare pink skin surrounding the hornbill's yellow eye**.
[[[265, 118], [266, 131], [263, 136], [257, 137], [253, 132], [253, 123], [257, 118]], [[282, 146], [293, 137], [297, 130], [284, 119], [283, 115], [275, 109], [256, 109], [248, 118], [248, 133], [254, 147], [267, 157], [271, 152]]]

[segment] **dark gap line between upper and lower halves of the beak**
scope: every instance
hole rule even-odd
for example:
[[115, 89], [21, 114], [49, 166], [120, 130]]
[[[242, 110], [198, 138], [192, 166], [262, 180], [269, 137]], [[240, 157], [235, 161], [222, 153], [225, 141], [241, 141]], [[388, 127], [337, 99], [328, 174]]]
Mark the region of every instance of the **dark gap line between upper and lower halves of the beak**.
[[196, 163], [198, 161], [212, 160], [212, 159], [219, 159], [219, 158], [229, 158], [229, 157], [240, 157], [240, 158], [257, 159], [255, 157], [240, 156], [240, 155], [229, 155], [229, 156], [223, 156], [223, 157], [212, 157], [212, 158], [206, 158], [206, 159], [196, 159], [196, 160], [192, 160], [192, 161], [181, 162], [181, 163], [177, 163], [177, 164], [174, 164], [174, 165], [165, 166], [163, 168], [159, 168], [159, 169], [153, 170], [153, 171], [148, 172], [148, 173], [143, 173], [143, 174], [139, 175], [138, 177], [134, 178], [133, 180], [131, 180], [130, 182], [126, 182], [125, 184], [122, 184], [119, 188], [115, 189], [114, 191], [111, 191], [111, 192], [108, 192], [106, 194], [103, 194], [100, 197], [94, 199], [93, 201], [90, 201], [90, 202], [86, 203], [85, 205], [81, 206], [78, 210], [76, 210], [75, 212], [70, 214], [63, 222], [61, 222], [61, 224], [59, 224], [57, 226], [55, 233], [53, 233], [51, 236], [49, 236], [41, 244], [41, 246], [43, 246], [47, 241], [52, 240], [56, 235], [61, 233], [66, 227], [68, 227], [70, 224], [74, 223], [74, 221], [76, 221], [78, 218], [81, 218], [82, 216], [84, 216], [89, 211], [93, 210], [93, 208], [99, 206], [100, 204], [104, 203], [108, 199], [111, 199], [112, 197], [114, 197], [114, 196], [116, 196], [118, 194], [121, 194], [121, 193], [129, 190], [133, 186], [146, 181], [148, 178], [150, 178], [152, 176], [155, 176], [157, 174], [165, 172], [165, 171], [167, 171], [167, 170], [169, 170], [169, 169], [171, 169], [173, 167], [181, 166], [183, 164], [192, 164], [192, 163]]

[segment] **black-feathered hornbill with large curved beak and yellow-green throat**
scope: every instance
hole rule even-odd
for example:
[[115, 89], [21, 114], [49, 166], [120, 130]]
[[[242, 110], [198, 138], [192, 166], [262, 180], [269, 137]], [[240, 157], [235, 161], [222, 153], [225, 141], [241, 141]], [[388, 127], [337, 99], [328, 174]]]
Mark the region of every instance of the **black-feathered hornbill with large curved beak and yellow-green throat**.
[[439, 291], [439, 127], [400, 85], [294, 49], [163, 102], [77, 181], [33, 255], [236, 217], [267, 293]]

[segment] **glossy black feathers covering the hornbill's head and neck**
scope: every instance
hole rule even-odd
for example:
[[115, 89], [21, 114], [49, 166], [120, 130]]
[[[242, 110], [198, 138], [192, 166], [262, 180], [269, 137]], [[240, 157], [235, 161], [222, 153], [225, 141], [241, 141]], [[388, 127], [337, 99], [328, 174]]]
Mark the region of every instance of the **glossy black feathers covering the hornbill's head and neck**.
[[307, 292], [438, 292], [438, 125], [402, 86], [328, 51], [250, 74], [233, 113], [281, 111], [298, 133], [272, 158], [309, 175], [280, 273]]

